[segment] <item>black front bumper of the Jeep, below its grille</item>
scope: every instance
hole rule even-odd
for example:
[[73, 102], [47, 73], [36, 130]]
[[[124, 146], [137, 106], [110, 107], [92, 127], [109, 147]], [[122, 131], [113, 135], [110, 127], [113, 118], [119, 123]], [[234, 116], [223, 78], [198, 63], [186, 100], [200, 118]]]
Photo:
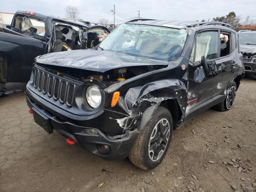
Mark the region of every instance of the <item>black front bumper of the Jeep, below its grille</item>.
[[[47, 106], [44, 106], [44, 102], [47, 101], [42, 99], [38, 102], [32, 97], [33, 92], [26, 90], [26, 100], [28, 107], [32, 109], [36, 115], [47, 118], [50, 126], [67, 138], [72, 138], [78, 144], [88, 151], [100, 156], [104, 160], [122, 160], [126, 158], [136, 140], [138, 133], [137, 131], [126, 130], [124, 134], [120, 136], [108, 136], [104, 133], [100, 127], [80, 126], [73, 122], [64, 120], [56, 114], [53, 114], [50, 109], [47, 110]], [[36, 95], [35, 95], [36, 97]], [[93, 119], [92, 119], [93, 120]], [[98, 119], [96, 118], [96, 121]], [[86, 120], [82, 120], [83, 122]], [[77, 122], [77, 121], [76, 121]], [[94, 129], [98, 134], [87, 134], [85, 129]], [[99, 145], [107, 145], [110, 151], [107, 154], [102, 153]]]

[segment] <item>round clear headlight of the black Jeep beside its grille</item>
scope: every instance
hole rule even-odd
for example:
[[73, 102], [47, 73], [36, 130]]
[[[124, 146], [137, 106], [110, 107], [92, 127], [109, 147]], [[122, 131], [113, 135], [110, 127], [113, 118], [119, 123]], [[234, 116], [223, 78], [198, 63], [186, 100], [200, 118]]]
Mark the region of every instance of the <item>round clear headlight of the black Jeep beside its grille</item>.
[[92, 108], [97, 108], [100, 106], [101, 94], [98, 87], [91, 85], [86, 89], [86, 101]]

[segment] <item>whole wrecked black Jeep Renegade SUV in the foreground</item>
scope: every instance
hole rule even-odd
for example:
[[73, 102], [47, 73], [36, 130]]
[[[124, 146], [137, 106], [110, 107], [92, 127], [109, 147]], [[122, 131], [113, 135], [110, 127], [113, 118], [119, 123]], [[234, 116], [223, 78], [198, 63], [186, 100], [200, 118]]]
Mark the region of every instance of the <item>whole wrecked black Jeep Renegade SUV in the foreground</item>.
[[48, 133], [150, 169], [164, 158], [172, 130], [208, 108], [230, 110], [243, 76], [232, 26], [140, 19], [94, 50], [37, 57], [26, 95]]

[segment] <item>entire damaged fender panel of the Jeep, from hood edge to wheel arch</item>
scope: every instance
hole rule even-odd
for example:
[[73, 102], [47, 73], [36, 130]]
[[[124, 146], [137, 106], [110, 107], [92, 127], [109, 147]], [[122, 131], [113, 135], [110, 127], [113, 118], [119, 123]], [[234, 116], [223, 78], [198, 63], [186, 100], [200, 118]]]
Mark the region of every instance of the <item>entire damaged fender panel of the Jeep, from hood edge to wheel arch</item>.
[[[186, 60], [186, 58], [182, 58], [182, 60]], [[124, 130], [143, 128], [158, 106], [168, 100], [175, 100], [181, 111], [177, 122], [182, 122], [187, 105], [187, 73], [186, 70], [177, 70], [176, 62], [170, 63], [167, 68], [169, 68], [167, 72], [163, 69], [155, 70], [114, 84], [104, 90], [106, 94], [120, 90], [121, 96], [118, 103], [111, 110], [120, 111], [127, 115], [127, 118], [116, 119], [117, 122], [122, 122], [121, 127]], [[186, 79], [168, 79], [168, 76], [174, 74], [186, 77]], [[162, 78], [162, 80], [152, 81], [154, 78]], [[130, 83], [133, 84], [132, 88], [129, 88]], [[123, 92], [125, 94], [122, 94]]]

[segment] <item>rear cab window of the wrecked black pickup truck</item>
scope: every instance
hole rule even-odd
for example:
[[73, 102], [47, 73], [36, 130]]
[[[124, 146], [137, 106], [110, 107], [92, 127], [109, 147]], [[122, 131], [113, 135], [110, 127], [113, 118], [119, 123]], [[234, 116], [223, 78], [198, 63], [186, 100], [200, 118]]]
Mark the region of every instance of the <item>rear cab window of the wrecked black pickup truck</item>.
[[44, 21], [34, 17], [17, 16], [15, 28], [22, 32], [45, 36]]

